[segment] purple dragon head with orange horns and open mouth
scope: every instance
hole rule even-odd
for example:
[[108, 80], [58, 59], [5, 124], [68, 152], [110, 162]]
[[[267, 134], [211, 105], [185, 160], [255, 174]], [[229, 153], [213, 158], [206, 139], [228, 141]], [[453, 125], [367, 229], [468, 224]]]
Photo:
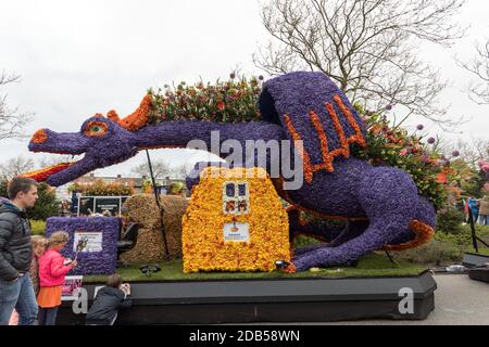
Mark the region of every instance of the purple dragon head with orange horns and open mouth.
[[80, 160], [63, 163], [23, 175], [38, 182], [59, 187], [99, 168], [118, 164], [135, 156], [139, 149], [134, 131], [147, 123], [150, 98], [145, 98], [139, 108], [124, 119], [114, 111], [108, 117], [101, 114], [87, 119], [79, 132], [38, 130], [29, 142], [29, 151], [84, 155]]

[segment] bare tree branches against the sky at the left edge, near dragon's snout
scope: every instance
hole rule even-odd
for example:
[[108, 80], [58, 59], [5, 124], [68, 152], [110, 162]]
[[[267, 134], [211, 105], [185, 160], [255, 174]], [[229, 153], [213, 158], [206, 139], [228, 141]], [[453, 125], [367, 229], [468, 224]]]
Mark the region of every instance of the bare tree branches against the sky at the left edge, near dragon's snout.
[[[3, 86], [18, 81], [18, 76], [8, 75], [5, 72], [2, 72], [0, 75], [0, 92]], [[25, 138], [22, 130], [32, 120], [33, 115], [32, 113], [20, 113], [17, 107], [9, 108], [7, 94], [0, 94], [0, 140]]]

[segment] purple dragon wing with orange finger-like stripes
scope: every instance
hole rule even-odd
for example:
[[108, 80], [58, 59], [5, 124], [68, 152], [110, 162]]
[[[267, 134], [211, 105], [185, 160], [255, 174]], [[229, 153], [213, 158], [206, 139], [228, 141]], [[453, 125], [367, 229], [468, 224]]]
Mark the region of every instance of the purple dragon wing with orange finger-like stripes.
[[333, 172], [338, 156], [350, 145], [366, 146], [365, 126], [344, 93], [323, 73], [298, 72], [266, 81], [260, 95], [264, 120], [280, 124], [289, 140], [303, 141], [304, 177]]

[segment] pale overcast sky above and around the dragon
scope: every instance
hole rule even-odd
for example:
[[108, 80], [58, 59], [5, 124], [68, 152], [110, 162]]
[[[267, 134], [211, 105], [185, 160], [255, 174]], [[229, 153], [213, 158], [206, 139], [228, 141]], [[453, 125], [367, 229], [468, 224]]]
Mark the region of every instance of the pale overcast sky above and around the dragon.
[[[474, 42], [489, 37], [489, 2], [468, 0], [457, 21], [471, 26], [467, 37], [451, 49], [425, 44], [421, 55], [452, 81], [441, 98], [451, 105], [449, 115], [471, 119], [447, 136], [488, 138], [489, 106], [469, 101], [464, 90], [475, 79], [453, 56], [468, 60]], [[96, 113], [131, 113], [149, 87], [227, 78], [237, 66], [263, 74], [251, 54], [267, 40], [255, 0], [0, 0], [0, 70], [22, 76], [0, 93], [9, 93], [11, 107], [35, 112], [28, 134], [39, 128], [78, 131]], [[152, 153], [174, 166], [202, 158], [190, 151]], [[27, 140], [1, 142], [0, 163], [17, 155], [39, 158]], [[145, 158], [139, 154], [96, 174], [127, 175]]]

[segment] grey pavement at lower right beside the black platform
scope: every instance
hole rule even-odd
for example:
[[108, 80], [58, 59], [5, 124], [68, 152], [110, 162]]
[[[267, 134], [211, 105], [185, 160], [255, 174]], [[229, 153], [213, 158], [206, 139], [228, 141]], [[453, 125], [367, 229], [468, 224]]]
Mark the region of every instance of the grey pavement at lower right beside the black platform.
[[425, 321], [358, 321], [328, 323], [360, 325], [489, 325], [489, 284], [464, 274], [435, 275], [435, 311]]

